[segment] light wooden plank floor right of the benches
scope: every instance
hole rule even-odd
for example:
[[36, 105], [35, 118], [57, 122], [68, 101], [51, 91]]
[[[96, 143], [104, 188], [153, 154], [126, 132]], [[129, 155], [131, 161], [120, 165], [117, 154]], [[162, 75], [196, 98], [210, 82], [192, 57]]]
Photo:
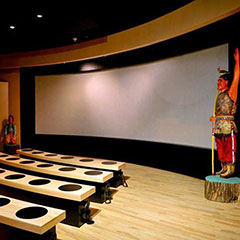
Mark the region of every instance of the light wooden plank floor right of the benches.
[[128, 188], [119, 187], [93, 225], [58, 224], [59, 240], [240, 239], [240, 204], [204, 198], [204, 181], [127, 164]]

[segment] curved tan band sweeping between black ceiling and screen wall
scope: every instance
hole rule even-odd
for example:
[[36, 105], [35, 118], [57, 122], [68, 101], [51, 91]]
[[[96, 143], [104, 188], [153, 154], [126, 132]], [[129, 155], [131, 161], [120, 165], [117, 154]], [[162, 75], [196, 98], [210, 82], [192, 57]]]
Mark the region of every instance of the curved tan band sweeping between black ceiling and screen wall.
[[0, 68], [79, 61], [128, 51], [190, 32], [240, 11], [239, 0], [195, 0], [138, 27], [87, 43], [0, 56]]

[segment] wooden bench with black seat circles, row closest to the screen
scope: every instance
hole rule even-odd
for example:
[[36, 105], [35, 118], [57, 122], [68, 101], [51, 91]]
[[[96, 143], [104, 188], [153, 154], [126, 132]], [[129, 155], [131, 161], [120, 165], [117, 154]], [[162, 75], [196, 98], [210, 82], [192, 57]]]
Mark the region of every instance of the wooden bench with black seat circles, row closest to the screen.
[[125, 168], [125, 162], [118, 162], [100, 158], [89, 158], [81, 156], [68, 156], [57, 153], [44, 152], [41, 150], [24, 148], [17, 150], [20, 156], [29, 157], [31, 159], [40, 159], [48, 162], [56, 162], [58, 164], [66, 164], [69, 166], [87, 167], [93, 169], [102, 169], [113, 172], [113, 178], [109, 181], [112, 187], [118, 187], [119, 185], [127, 186], [125, 178], [123, 176], [123, 168]]

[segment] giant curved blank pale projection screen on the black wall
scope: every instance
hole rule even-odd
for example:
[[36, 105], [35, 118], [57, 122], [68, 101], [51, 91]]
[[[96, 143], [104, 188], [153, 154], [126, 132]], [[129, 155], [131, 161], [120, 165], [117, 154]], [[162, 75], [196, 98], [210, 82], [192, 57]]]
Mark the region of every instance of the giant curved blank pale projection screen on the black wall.
[[36, 134], [211, 148], [217, 67], [228, 45], [130, 67], [35, 78]]

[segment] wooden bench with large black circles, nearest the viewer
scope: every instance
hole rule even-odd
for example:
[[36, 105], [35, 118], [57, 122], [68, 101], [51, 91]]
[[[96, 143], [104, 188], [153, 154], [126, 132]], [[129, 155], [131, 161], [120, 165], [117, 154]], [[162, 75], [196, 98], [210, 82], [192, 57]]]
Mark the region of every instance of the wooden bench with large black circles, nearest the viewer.
[[1, 240], [56, 240], [56, 224], [64, 210], [36, 205], [0, 195]]

